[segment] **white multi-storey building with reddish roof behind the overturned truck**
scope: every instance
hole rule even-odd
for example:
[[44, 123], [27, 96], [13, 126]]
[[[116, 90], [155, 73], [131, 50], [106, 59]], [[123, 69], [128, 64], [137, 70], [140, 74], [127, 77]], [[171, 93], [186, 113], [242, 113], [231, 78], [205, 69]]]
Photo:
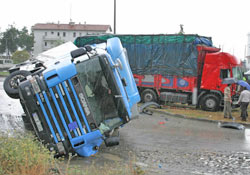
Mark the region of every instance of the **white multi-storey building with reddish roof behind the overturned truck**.
[[32, 26], [34, 32], [34, 56], [53, 48], [67, 41], [74, 41], [79, 36], [97, 35], [110, 33], [110, 25], [93, 25], [93, 24], [35, 24]]

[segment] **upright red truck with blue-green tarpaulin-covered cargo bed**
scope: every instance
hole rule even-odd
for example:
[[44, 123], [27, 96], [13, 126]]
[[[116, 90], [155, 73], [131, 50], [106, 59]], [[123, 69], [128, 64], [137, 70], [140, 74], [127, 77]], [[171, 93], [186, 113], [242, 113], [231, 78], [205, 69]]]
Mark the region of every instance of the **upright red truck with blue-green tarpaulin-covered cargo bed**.
[[[114, 35], [83, 36], [80, 47]], [[217, 111], [223, 104], [224, 78], [242, 79], [235, 56], [220, 52], [210, 37], [199, 35], [115, 35], [127, 50], [130, 67], [143, 102], [192, 104]], [[232, 96], [237, 100], [236, 85]], [[236, 104], [236, 103], [233, 103]]]

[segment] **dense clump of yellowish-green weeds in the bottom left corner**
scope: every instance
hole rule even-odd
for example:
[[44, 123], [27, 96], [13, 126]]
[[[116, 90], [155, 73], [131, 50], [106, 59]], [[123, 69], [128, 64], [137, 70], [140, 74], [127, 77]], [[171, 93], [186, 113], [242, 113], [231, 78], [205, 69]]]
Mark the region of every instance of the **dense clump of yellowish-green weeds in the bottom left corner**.
[[0, 137], [0, 175], [49, 175], [55, 160], [32, 135]]

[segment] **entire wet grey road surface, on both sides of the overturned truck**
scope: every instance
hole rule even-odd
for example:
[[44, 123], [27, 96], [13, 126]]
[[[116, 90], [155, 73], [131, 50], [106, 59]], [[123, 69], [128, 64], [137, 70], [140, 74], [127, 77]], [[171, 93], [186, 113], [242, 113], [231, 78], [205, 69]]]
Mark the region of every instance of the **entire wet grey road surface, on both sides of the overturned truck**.
[[[0, 78], [0, 130], [23, 130], [18, 100], [7, 97]], [[23, 132], [25, 132], [23, 130]], [[98, 166], [132, 162], [146, 174], [250, 174], [250, 129], [220, 128], [217, 123], [141, 115], [120, 129], [120, 145], [71, 164]]]

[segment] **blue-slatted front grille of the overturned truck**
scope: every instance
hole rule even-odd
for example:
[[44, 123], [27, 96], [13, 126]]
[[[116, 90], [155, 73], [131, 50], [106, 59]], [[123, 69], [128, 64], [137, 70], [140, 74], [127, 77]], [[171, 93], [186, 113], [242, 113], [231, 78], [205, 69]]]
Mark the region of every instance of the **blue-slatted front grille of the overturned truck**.
[[[72, 139], [91, 132], [71, 79], [35, 95], [56, 144], [67, 137], [72, 144]], [[72, 146], [79, 144], [84, 143]]]

